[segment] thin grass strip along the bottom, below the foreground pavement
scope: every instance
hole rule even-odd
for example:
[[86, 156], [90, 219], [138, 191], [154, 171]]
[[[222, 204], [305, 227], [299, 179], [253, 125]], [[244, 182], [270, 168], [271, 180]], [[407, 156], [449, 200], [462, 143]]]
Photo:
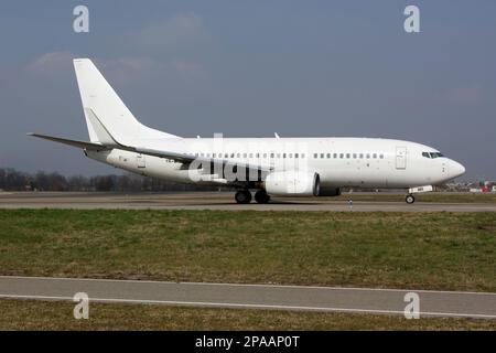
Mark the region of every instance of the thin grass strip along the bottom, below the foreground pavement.
[[0, 330], [496, 330], [494, 320], [0, 300]]

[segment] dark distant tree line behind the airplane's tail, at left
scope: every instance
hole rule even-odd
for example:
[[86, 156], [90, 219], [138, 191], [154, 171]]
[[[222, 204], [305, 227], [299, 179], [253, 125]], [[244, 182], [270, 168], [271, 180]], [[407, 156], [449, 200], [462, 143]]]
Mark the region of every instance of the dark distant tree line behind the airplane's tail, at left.
[[25, 173], [10, 168], [0, 168], [0, 190], [3, 191], [215, 191], [218, 188], [195, 184], [179, 184], [157, 178], [136, 174], [122, 175], [72, 175], [57, 172]]

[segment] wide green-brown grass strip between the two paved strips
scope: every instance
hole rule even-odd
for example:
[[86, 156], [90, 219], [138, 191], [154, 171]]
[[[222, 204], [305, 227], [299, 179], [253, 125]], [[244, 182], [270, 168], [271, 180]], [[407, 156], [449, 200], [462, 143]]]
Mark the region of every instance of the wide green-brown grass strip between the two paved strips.
[[0, 211], [0, 275], [496, 291], [496, 213]]

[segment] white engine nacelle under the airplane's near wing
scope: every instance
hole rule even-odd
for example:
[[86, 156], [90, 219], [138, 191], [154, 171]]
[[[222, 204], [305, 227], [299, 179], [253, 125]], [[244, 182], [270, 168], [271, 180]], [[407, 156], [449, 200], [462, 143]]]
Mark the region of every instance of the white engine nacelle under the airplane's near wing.
[[317, 173], [299, 170], [272, 172], [265, 181], [267, 193], [280, 196], [316, 196], [320, 186]]

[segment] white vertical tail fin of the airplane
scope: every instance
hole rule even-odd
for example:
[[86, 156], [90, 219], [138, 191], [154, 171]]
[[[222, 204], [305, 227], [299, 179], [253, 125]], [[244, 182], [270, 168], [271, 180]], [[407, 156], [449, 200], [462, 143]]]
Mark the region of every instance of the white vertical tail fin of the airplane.
[[140, 139], [177, 138], [139, 122], [89, 58], [75, 58], [74, 68], [91, 142], [134, 145]]

